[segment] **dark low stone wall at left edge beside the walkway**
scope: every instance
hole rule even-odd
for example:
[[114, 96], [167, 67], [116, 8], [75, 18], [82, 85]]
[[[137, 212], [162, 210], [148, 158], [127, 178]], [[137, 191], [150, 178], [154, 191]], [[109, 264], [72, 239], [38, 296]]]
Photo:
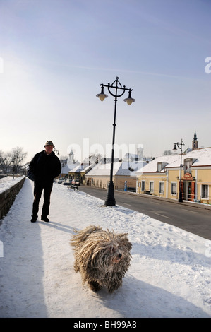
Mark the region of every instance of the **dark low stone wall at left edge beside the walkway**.
[[23, 177], [23, 179], [11, 186], [11, 188], [6, 189], [6, 191], [0, 193], [0, 219], [3, 218], [6, 213], [8, 213], [9, 209], [13, 204], [13, 201], [16, 198], [16, 195], [22, 188], [24, 181], [25, 177]]

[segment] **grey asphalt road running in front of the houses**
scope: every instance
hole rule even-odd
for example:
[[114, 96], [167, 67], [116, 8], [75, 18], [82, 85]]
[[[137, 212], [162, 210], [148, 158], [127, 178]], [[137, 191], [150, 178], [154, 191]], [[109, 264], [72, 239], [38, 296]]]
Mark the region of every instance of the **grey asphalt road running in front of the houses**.
[[[90, 186], [80, 186], [80, 191], [95, 197], [105, 199], [107, 191]], [[182, 228], [187, 232], [211, 240], [211, 206], [183, 201], [165, 200], [155, 196], [140, 196], [137, 194], [115, 191], [116, 204], [145, 213], [164, 223]]]

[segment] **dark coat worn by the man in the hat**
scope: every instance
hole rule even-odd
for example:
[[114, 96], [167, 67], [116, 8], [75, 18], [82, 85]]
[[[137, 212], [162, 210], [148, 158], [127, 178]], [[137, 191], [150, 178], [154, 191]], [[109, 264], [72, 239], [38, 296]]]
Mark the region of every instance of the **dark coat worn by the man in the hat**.
[[30, 162], [29, 169], [35, 175], [35, 182], [53, 182], [61, 173], [61, 162], [54, 151], [50, 155], [42, 150], [36, 153]]

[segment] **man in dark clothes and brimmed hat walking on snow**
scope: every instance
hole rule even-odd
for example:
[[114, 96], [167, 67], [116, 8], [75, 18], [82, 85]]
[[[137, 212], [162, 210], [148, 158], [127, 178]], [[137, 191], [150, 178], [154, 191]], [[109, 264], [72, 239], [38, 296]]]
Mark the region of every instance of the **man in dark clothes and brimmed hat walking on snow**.
[[34, 174], [34, 202], [32, 206], [32, 219], [31, 222], [35, 223], [37, 220], [37, 213], [39, 211], [40, 198], [43, 191], [44, 202], [42, 206], [41, 220], [49, 221], [50, 196], [54, 177], [58, 177], [61, 173], [61, 162], [55, 155], [54, 144], [52, 141], [47, 141], [44, 145], [44, 150], [37, 153], [30, 162], [29, 169]]

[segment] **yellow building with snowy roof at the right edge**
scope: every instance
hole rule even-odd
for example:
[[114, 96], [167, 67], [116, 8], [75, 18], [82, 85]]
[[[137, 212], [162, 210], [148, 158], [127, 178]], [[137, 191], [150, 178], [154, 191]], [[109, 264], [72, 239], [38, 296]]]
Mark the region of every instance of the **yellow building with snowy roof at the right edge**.
[[[182, 167], [180, 168], [180, 165]], [[137, 192], [184, 201], [211, 203], [211, 148], [200, 148], [182, 155], [152, 160], [137, 174]]]

